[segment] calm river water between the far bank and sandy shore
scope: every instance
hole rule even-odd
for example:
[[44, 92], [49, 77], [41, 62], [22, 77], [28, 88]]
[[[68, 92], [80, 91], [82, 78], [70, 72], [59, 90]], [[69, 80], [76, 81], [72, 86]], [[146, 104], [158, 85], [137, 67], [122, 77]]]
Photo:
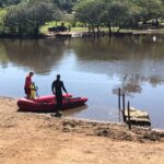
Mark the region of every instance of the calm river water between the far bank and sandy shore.
[[0, 95], [24, 96], [24, 79], [34, 71], [39, 95], [51, 94], [56, 74], [86, 106], [67, 115], [120, 121], [117, 90], [126, 104], [149, 113], [153, 128], [164, 128], [164, 36], [0, 39]]

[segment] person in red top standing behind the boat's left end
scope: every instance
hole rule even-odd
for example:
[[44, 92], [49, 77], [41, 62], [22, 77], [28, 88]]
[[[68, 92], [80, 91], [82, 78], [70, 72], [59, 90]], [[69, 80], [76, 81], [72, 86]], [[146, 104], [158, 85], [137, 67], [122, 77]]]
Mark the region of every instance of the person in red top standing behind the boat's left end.
[[34, 72], [30, 72], [30, 74], [25, 78], [24, 92], [26, 94], [26, 98], [31, 97], [31, 84], [32, 84], [33, 75], [34, 75]]

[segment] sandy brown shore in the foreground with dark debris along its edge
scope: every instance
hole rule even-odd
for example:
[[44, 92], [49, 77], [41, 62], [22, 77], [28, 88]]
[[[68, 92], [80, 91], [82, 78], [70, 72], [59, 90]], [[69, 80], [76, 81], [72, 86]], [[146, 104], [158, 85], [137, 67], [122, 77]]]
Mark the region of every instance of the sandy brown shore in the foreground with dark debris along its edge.
[[17, 112], [0, 97], [0, 164], [164, 164], [164, 132]]

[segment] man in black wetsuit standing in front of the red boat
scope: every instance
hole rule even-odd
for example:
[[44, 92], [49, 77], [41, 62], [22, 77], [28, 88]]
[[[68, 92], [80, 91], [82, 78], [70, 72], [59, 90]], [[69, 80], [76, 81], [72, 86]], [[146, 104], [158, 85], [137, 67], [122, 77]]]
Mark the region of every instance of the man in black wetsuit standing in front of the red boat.
[[51, 84], [51, 91], [56, 95], [57, 101], [57, 113], [54, 115], [56, 117], [60, 117], [61, 114], [61, 107], [62, 107], [62, 90], [68, 94], [63, 82], [60, 81], [60, 74], [57, 74], [57, 79]]

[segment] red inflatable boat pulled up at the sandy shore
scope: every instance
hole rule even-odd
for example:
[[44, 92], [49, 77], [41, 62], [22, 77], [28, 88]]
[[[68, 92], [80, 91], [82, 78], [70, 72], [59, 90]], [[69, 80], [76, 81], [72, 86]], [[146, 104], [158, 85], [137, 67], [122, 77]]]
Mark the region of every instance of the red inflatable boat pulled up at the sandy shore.
[[[86, 97], [72, 97], [70, 94], [63, 95], [62, 109], [82, 106], [87, 101]], [[17, 101], [19, 110], [36, 113], [54, 113], [56, 110], [56, 101], [54, 95], [42, 96], [38, 98]]]

